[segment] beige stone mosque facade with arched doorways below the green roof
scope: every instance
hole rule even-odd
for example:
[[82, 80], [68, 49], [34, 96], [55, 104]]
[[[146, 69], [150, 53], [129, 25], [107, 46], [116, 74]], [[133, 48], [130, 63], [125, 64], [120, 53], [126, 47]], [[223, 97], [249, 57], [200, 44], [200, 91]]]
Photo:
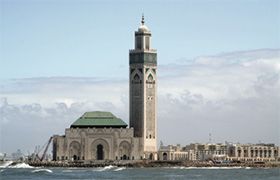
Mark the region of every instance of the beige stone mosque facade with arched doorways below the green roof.
[[140, 138], [132, 128], [67, 128], [54, 135], [54, 160], [142, 159]]

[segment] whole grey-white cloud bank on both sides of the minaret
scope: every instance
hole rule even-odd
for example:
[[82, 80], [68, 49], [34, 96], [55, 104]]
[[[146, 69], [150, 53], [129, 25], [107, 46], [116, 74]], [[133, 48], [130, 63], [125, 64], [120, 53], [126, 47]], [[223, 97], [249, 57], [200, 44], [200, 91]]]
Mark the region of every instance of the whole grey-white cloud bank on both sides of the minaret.
[[[211, 133], [213, 142], [279, 145], [279, 54], [261, 49], [159, 65], [159, 140], [186, 145]], [[86, 111], [111, 111], [128, 123], [128, 90], [128, 78], [11, 80], [1, 88], [1, 151], [43, 144]]]

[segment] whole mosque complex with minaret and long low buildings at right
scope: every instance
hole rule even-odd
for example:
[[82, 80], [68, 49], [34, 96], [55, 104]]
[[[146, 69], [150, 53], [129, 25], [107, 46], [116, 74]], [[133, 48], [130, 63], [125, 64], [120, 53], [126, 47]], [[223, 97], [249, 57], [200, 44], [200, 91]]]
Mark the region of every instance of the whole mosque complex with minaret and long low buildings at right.
[[53, 136], [53, 160], [224, 160], [279, 161], [274, 144], [195, 143], [157, 149], [157, 51], [144, 25], [129, 51], [129, 128], [111, 112], [85, 112], [65, 135]]

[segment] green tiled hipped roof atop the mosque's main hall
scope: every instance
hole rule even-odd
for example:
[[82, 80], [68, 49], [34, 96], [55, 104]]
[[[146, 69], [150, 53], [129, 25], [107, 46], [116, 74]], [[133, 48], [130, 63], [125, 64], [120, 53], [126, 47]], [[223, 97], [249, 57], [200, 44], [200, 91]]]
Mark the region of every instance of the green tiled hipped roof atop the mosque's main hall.
[[127, 127], [127, 124], [111, 112], [86, 112], [71, 127]]

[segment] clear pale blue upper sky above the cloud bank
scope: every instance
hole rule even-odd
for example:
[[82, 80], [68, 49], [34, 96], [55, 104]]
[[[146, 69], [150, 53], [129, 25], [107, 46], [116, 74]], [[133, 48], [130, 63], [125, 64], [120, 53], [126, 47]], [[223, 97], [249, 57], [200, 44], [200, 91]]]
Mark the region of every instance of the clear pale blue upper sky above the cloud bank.
[[279, 1], [2, 1], [1, 78], [127, 78], [142, 12], [160, 64], [279, 48]]

